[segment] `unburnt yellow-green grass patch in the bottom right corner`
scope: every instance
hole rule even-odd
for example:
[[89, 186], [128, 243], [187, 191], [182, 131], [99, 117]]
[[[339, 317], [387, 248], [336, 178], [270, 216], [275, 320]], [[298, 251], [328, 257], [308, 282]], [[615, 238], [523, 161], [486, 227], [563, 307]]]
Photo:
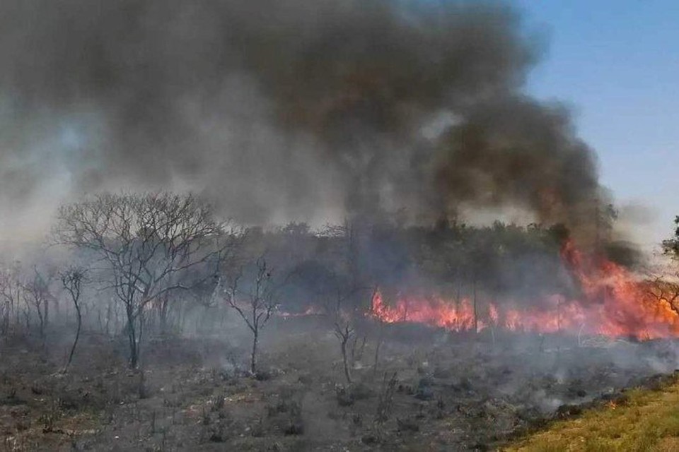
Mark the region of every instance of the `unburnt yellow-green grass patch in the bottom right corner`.
[[525, 452], [679, 451], [679, 382], [634, 389], [624, 403], [586, 410], [503, 449]]

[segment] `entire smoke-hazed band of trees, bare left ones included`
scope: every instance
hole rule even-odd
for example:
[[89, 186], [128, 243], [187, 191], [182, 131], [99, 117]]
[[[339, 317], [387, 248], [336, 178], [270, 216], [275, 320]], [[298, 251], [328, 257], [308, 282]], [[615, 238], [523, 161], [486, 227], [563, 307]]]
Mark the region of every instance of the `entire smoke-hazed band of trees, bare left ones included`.
[[364, 313], [378, 288], [387, 302], [403, 294], [569, 295], [575, 289], [559, 256], [566, 237], [560, 226], [501, 222], [265, 230], [225, 220], [192, 195], [100, 194], [59, 208], [42, 251], [6, 259], [0, 334], [47, 343], [57, 328], [82, 326], [125, 338], [137, 366], [147, 335], [208, 333], [235, 310], [253, 331], [254, 368], [259, 329], [276, 311]]

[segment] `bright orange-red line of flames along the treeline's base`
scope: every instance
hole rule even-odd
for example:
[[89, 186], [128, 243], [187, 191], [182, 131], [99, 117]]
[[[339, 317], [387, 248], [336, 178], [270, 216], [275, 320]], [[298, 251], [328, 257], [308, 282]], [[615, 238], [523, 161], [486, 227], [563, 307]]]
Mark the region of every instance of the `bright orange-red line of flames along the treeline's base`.
[[[381, 292], [373, 295], [370, 315], [385, 323], [410, 321], [448, 328], [478, 331], [489, 326], [535, 333], [576, 332], [640, 340], [679, 337], [679, 314], [667, 299], [658, 299], [648, 284], [637, 280], [616, 263], [584, 256], [571, 242], [562, 258], [581, 287], [581, 299], [551, 295], [523, 309], [512, 303], [458, 302], [441, 297], [400, 297], [385, 304]], [[538, 307], [539, 306], [539, 307]]]

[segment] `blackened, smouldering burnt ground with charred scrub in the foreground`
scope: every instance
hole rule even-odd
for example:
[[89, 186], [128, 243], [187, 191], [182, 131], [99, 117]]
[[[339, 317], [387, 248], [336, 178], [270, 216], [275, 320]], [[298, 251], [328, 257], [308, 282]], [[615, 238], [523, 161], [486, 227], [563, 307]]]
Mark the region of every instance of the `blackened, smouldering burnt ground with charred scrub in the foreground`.
[[493, 450], [678, 362], [668, 340], [373, 325], [349, 385], [320, 317], [268, 325], [257, 376], [243, 371], [246, 332], [224, 328], [149, 338], [143, 372], [126, 368], [124, 343], [99, 335], [83, 335], [68, 374], [66, 338], [3, 343], [0, 451]]

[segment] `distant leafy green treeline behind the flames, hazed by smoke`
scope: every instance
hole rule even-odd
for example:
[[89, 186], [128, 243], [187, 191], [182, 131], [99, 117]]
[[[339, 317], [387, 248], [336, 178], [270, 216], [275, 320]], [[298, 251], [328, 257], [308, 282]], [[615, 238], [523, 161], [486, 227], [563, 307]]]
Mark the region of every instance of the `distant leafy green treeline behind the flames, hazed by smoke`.
[[[495, 222], [488, 227], [441, 224], [400, 227], [349, 223], [312, 231], [291, 224], [250, 236], [289, 275], [288, 309], [337, 287], [379, 287], [383, 294], [438, 294], [460, 299], [474, 287], [488, 296], [539, 297], [568, 292], [559, 255], [567, 231]], [[257, 238], [255, 238], [257, 237]]]

